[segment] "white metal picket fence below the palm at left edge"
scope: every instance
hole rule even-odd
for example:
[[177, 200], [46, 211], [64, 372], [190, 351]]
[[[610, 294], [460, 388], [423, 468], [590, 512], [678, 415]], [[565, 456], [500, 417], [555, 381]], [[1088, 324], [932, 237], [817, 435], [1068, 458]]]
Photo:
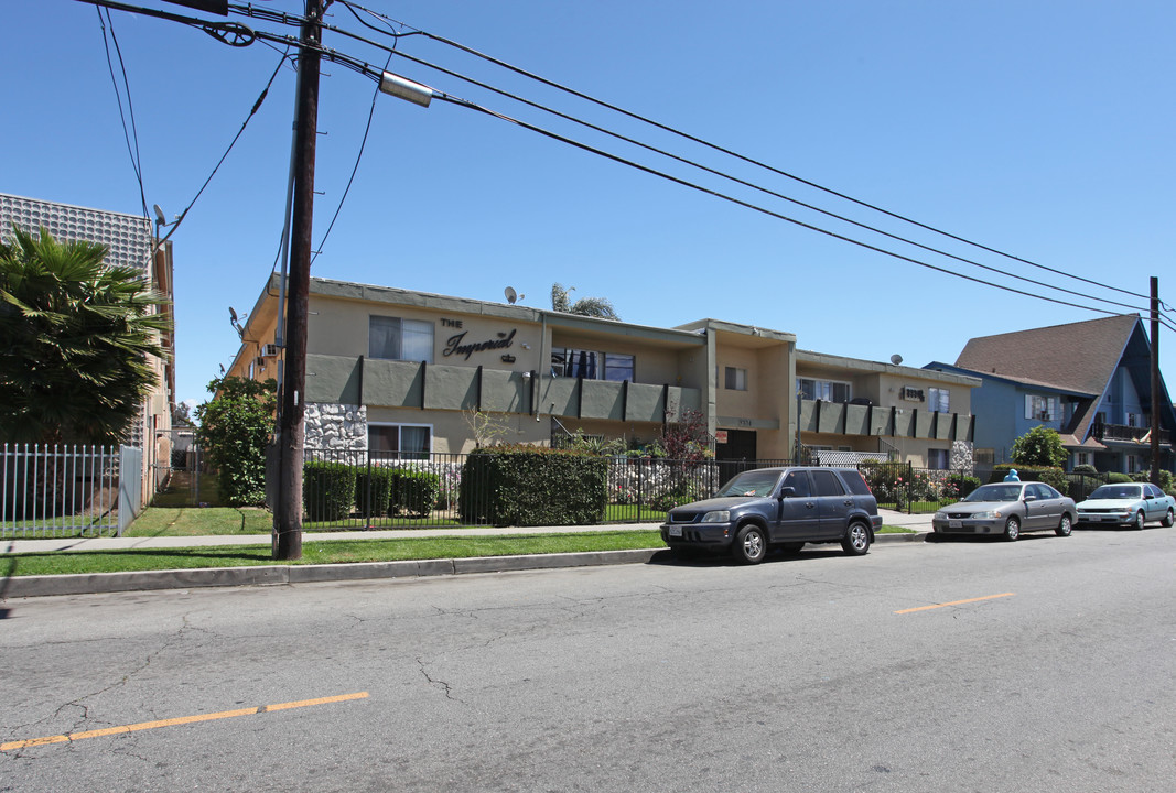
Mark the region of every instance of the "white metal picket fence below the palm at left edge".
[[141, 506], [141, 449], [0, 446], [0, 538], [121, 536]]

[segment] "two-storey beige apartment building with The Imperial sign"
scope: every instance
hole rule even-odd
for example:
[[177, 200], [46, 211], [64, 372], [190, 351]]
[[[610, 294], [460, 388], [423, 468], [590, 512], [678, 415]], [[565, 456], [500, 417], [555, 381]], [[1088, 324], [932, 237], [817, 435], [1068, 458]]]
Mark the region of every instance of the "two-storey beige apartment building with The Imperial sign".
[[[653, 328], [323, 278], [308, 305], [307, 449], [468, 452], [475, 412], [496, 417], [505, 442], [581, 431], [642, 444], [688, 411], [719, 459], [790, 459], [797, 423], [806, 446], [915, 465], [946, 468], [954, 448], [970, 449], [975, 378], [804, 352], [790, 332]], [[278, 307], [274, 276], [229, 375], [279, 376]]]

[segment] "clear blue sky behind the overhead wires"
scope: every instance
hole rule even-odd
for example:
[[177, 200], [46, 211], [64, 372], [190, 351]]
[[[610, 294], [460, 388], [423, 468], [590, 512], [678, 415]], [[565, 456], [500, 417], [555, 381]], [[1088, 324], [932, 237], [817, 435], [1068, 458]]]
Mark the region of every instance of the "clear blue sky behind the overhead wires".
[[[145, 6], [188, 14], [180, 6]], [[255, 4], [298, 13], [299, 0]], [[989, 267], [918, 250], [740, 187], [401, 58], [389, 70], [453, 96], [806, 223], [1049, 303], [936, 273], [669, 183], [466, 108], [381, 95], [321, 277], [550, 308], [550, 288], [607, 296], [622, 320], [715, 317], [795, 332], [804, 349], [911, 365], [954, 362], [973, 336], [1145, 313], [1149, 276], [1176, 305], [1171, 255], [1176, 5], [1125, 0], [956, 4], [592, 4], [366, 0], [412, 27], [927, 226], [1129, 296], [954, 242], [639, 125], [422, 38], [400, 52], [523, 95], [708, 168]], [[0, 191], [138, 214], [99, 16], [73, 0], [5, 4]], [[195, 15], [195, 12], [191, 12]], [[329, 22], [366, 31], [335, 4]], [[180, 213], [248, 115], [280, 54], [112, 12], [131, 86], [148, 206]], [[258, 29], [295, 28], [249, 21]], [[389, 39], [382, 39], [390, 42]], [[382, 67], [387, 53], [328, 32]], [[375, 83], [325, 63], [315, 240], [342, 196]], [[115, 73], [121, 73], [115, 61]], [[126, 105], [126, 98], [123, 98]], [[273, 88], [175, 231], [178, 394], [239, 343], [278, 251], [294, 73]], [[1176, 322], [1176, 315], [1167, 315]], [[1161, 335], [1169, 387], [1176, 334]], [[639, 374], [640, 376], [640, 374]]]

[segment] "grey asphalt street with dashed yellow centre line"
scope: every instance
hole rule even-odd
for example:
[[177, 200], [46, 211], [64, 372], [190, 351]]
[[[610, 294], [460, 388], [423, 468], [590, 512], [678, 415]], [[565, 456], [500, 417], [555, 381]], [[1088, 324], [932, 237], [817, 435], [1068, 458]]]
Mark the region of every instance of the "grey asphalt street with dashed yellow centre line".
[[1077, 531], [12, 600], [0, 787], [1168, 791], [1174, 562]]

